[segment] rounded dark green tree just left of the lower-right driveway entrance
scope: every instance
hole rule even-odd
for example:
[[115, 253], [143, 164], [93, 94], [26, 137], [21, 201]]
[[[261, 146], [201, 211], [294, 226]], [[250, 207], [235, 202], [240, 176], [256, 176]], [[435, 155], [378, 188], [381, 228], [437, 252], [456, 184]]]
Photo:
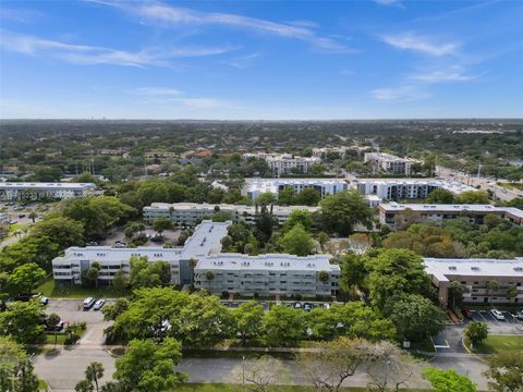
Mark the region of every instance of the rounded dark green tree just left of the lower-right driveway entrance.
[[445, 313], [428, 298], [409, 294], [389, 302], [387, 314], [402, 340], [421, 341], [445, 329]]

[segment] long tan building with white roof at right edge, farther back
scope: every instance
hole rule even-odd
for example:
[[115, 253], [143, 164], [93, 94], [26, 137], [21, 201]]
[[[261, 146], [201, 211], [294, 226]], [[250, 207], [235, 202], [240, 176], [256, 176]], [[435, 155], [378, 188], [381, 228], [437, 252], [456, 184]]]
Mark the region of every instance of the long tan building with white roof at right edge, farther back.
[[446, 220], [467, 218], [482, 224], [487, 215], [495, 215], [514, 224], [523, 224], [523, 211], [514, 207], [490, 205], [427, 205], [427, 204], [381, 204], [378, 207], [379, 221], [394, 229], [410, 223], [441, 224]]

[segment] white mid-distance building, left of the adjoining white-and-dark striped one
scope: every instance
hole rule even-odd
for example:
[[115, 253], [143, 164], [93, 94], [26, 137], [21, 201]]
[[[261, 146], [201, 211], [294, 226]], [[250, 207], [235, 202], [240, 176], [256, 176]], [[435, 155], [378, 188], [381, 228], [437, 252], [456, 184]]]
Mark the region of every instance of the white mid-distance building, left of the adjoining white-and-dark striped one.
[[285, 187], [297, 192], [305, 188], [317, 189], [321, 197], [349, 189], [349, 183], [342, 179], [245, 179], [242, 195], [254, 200], [263, 193], [278, 193]]

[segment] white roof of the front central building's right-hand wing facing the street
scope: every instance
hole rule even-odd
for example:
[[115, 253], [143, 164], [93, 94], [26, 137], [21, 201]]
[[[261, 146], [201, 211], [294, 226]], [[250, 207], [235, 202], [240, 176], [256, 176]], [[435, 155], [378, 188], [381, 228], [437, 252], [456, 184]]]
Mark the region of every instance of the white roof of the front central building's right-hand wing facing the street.
[[339, 270], [338, 265], [330, 265], [330, 255], [295, 256], [284, 254], [267, 254], [248, 256], [243, 254], [219, 254], [200, 258], [196, 270], [304, 270], [331, 271]]

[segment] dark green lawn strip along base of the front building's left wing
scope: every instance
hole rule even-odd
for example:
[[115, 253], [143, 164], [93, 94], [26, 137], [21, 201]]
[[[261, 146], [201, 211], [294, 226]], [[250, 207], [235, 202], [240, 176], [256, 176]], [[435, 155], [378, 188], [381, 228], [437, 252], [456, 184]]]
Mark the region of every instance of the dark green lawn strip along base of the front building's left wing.
[[53, 279], [41, 283], [36, 291], [49, 298], [118, 298], [131, 294], [129, 290], [115, 290], [113, 286], [85, 289], [80, 285], [56, 286]]

